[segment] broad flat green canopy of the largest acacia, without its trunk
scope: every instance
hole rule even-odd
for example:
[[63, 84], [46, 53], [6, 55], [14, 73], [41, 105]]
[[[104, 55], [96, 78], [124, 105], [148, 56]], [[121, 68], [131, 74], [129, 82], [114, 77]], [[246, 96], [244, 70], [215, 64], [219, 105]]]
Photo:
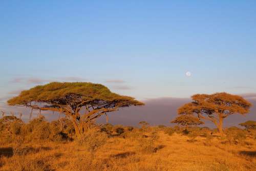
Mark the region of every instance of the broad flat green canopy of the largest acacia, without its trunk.
[[101, 84], [91, 82], [52, 82], [44, 86], [36, 86], [25, 90], [17, 97], [8, 100], [9, 105], [26, 105], [31, 102], [66, 105], [69, 103], [123, 103], [127, 105], [143, 105], [132, 97], [112, 93]]

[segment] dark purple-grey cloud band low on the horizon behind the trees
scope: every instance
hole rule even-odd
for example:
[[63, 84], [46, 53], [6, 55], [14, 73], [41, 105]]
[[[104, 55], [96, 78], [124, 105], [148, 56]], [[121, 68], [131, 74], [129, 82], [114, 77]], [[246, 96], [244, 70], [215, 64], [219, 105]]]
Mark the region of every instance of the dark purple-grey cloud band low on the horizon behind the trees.
[[[251, 96], [249, 96], [251, 97]], [[224, 126], [238, 126], [238, 123], [247, 120], [256, 120], [256, 99], [248, 99], [252, 104], [252, 108], [249, 114], [231, 115], [224, 120]], [[147, 99], [144, 101], [144, 106], [131, 106], [130, 108], [122, 108], [119, 111], [109, 114], [109, 122], [112, 124], [123, 124], [138, 126], [140, 121], [147, 121], [151, 125], [173, 125], [170, 124], [170, 120], [177, 117], [177, 109], [184, 103], [190, 102], [189, 98], [156, 98]], [[24, 113], [25, 121], [28, 121], [30, 109], [8, 106], [6, 103], [0, 103], [0, 109], [5, 111], [12, 111], [18, 115], [19, 112]], [[33, 117], [36, 117], [38, 111], [33, 112]], [[47, 119], [53, 120], [58, 117], [55, 113], [44, 111], [43, 113]], [[105, 117], [100, 117], [97, 122], [105, 123]], [[215, 127], [211, 122], [205, 122], [206, 126]]]

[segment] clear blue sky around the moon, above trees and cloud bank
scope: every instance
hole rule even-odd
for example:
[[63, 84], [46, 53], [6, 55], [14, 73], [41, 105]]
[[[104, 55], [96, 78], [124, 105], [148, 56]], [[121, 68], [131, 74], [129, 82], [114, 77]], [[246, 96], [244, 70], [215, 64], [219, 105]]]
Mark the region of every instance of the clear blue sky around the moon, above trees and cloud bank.
[[0, 22], [0, 101], [55, 80], [138, 99], [256, 92], [255, 0], [8, 0]]

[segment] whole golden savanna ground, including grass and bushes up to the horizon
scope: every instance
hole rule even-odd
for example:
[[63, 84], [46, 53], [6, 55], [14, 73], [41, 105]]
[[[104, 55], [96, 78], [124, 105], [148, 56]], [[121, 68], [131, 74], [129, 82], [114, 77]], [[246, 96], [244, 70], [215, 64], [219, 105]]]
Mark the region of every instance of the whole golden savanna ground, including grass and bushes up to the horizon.
[[238, 127], [92, 124], [76, 138], [68, 119], [0, 125], [0, 170], [255, 170], [256, 131]]

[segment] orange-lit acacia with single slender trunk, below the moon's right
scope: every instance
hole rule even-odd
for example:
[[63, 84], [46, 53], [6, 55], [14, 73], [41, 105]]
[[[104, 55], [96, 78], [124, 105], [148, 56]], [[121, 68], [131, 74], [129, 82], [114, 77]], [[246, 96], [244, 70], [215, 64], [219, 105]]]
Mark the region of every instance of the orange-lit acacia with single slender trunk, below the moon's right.
[[228, 93], [196, 94], [192, 102], [178, 109], [179, 115], [196, 115], [200, 119], [213, 122], [223, 136], [223, 119], [233, 114], [245, 115], [249, 112], [251, 103], [241, 96]]

